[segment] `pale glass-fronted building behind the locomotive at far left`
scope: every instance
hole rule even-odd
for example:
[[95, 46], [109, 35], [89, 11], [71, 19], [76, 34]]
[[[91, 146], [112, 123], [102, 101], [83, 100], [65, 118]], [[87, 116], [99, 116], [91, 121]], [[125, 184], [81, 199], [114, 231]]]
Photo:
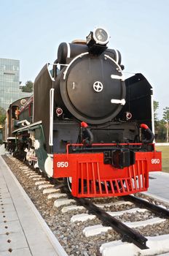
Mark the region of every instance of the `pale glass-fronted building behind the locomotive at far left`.
[[20, 90], [20, 61], [0, 58], [0, 107], [6, 110], [16, 99], [29, 96]]

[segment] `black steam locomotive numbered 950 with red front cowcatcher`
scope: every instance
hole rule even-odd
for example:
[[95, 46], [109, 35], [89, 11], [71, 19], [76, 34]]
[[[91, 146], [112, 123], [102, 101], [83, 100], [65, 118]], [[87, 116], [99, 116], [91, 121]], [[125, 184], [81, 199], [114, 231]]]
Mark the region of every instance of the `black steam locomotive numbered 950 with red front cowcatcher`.
[[75, 197], [146, 191], [149, 171], [161, 170], [152, 86], [140, 73], [125, 80], [121, 54], [108, 42], [102, 28], [62, 42], [33, 96], [7, 110], [7, 149], [66, 182]]

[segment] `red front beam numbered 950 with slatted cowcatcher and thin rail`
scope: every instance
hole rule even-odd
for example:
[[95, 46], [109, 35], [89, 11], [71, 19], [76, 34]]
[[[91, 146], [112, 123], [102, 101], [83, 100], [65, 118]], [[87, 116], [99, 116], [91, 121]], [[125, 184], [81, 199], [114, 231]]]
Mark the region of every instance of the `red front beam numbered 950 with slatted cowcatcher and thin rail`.
[[[141, 146], [142, 143], [118, 144]], [[161, 152], [135, 152], [135, 164], [123, 169], [103, 163], [103, 153], [54, 154], [53, 178], [71, 177], [71, 192], [75, 197], [108, 197], [129, 195], [146, 191], [149, 187], [149, 171], [162, 170]], [[93, 146], [117, 146], [117, 144], [93, 144]], [[153, 159], [153, 160], [152, 160]]]

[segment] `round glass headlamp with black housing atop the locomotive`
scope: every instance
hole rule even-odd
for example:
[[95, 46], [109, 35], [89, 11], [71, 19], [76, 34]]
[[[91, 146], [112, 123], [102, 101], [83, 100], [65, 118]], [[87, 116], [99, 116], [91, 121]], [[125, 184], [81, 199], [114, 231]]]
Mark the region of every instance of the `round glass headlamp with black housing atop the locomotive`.
[[109, 34], [105, 29], [96, 28], [90, 31], [90, 34], [86, 37], [86, 43], [90, 53], [100, 55], [106, 50], [106, 45], [109, 42]]

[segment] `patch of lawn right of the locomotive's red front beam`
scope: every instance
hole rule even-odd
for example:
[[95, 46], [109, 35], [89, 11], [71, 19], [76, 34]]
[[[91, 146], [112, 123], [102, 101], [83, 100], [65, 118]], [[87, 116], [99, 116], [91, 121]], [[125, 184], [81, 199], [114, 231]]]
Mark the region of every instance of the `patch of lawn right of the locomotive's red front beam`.
[[157, 151], [162, 151], [162, 171], [169, 173], [169, 146], [156, 146]]

